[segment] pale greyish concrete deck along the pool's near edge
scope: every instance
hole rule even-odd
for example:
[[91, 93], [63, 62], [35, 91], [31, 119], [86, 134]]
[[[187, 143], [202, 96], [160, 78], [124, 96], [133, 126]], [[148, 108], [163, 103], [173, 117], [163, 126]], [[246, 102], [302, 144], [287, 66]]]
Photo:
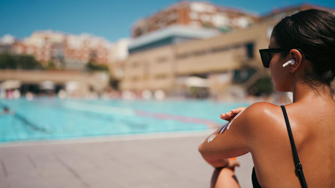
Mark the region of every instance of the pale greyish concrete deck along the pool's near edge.
[[[209, 187], [213, 168], [198, 145], [213, 130], [0, 144], [0, 187]], [[251, 155], [238, 157], [252, 187]]]

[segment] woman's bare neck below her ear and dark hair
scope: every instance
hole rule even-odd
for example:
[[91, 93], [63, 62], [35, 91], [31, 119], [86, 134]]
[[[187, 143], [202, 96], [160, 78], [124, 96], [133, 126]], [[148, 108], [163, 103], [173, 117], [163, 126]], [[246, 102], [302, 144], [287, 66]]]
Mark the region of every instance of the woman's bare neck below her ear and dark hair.
[[313, 89], [311, 86], [305, 83], [298, 83], [293, 86], [293, 103], [296, 102], [312, 102], [318, 101], [318, 103], [334, 103], [335, 101], [331, 94], [331, 89], [327, 85], [320, 85]]

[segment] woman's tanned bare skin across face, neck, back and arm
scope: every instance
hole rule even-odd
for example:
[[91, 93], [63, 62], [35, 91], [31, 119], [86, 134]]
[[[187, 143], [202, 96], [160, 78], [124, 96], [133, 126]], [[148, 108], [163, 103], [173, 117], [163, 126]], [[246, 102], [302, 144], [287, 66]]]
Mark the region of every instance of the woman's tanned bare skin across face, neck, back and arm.
[[[275, 47], [271, 38], [269, 48]], [[289, 59], [296, 63], [283, 67]], [[272, 54], [269, 70], [276, 91], [293, 92], [293, 103], [285, 108], [308, 187], [335, 187], [335, 101], [329, 86], [320, 84], [315, 91], [303, 81], [307, 66], [300, 52], [292, 49], [285, 57]], [[220, 118], [229, 120], [241, 110]], [[249, 106], [229, 130], [202, 143], [199, 151], [214, 167], [250, 152], [262, 187], [301, 187], [280, 106], [267, 102]], [[215, 187], [229, 187], [221, 184], [224, 177], [220, 177]]]

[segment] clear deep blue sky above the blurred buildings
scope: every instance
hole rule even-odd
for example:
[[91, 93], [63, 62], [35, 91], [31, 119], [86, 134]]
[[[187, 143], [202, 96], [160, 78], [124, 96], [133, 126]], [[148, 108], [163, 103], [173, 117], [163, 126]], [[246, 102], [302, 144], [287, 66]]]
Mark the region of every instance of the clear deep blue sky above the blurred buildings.
[[[129, 37], [131, 26], [177, 0], [0, 0], [0, 37], [23, 38], [35, 30], [91, 33], [110, 41]], [[274, 8], [311, 3], [335, 8], [334, 0], [211, 0], [211, 3], [240, 8], [259, 15]]]

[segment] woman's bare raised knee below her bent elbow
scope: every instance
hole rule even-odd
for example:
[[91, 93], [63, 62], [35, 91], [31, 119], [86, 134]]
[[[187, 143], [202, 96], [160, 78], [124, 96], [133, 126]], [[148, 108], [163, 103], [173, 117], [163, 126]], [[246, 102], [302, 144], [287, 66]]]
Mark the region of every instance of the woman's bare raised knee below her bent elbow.
[[234, 171], [230, 168], [216, 168], [211, 180], [211, 188], [240, 188]]

